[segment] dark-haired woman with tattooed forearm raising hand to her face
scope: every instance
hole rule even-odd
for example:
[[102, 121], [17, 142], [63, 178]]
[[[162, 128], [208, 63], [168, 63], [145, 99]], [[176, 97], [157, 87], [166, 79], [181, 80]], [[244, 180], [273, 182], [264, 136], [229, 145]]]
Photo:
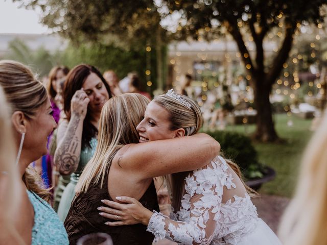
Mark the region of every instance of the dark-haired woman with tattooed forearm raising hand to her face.
[[79, 175], [95, 152], [100, 113], [110, 97], [109, 86], [95, 67], [81, 64], [68, 73], [63, 96], [66, 118], [58, 128], [54, 156], [59, 173], [71, 175], [58, 207], [62, 221], [75, 196]]

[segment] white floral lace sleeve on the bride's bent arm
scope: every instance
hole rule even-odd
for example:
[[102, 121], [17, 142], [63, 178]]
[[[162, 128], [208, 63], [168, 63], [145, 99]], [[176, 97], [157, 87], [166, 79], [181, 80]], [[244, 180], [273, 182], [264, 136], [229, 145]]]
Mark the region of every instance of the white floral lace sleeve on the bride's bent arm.
[[168, 238], [181, 244], [209, 244], [219, 223], [223, 186], [235, 186], [220, 157], [186, 178], [186, 194], [177, 212], [179, 220], [155, 212], [148, 231], [156, 240]]

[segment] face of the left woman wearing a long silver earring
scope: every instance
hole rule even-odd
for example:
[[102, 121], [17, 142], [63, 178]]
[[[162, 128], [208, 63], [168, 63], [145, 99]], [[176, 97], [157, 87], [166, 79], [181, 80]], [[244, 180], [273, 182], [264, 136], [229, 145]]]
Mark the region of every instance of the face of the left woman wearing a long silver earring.
[[36, 111], [35, 116], [28, 120], [24, 148], [27, 151], [34, 152], [35, 160], [48, 153], [48, 149], [46, 148], [48, 136], [57, 128], [52, 114], [53, 110], [48, 99]]

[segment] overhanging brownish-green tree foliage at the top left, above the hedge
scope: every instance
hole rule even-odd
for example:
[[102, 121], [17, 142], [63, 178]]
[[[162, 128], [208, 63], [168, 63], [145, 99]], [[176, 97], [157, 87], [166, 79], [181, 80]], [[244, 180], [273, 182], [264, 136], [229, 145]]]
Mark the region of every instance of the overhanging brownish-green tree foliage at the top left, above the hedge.
[[152, 0], [14, 0], [40, 7], [41, 21], [74, 42], [93, 41], [133, 46], [139, 40], [154, 42], [160, 16]]

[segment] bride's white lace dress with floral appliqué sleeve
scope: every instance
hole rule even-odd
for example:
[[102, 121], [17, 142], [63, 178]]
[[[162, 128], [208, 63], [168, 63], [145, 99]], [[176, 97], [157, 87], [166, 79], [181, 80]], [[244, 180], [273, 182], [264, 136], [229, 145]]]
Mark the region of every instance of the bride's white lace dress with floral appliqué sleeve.
[[282, 244], [258, 217], [248, 194], [222, 204], [224, 187], [236, 188], [232, 180], [226, 161], [217, 156], [186, 178], [186, 194], [177, 215], [169, 218], [155, 212], [147, 230], [155, 240], [168, 238], [180, 244]]

